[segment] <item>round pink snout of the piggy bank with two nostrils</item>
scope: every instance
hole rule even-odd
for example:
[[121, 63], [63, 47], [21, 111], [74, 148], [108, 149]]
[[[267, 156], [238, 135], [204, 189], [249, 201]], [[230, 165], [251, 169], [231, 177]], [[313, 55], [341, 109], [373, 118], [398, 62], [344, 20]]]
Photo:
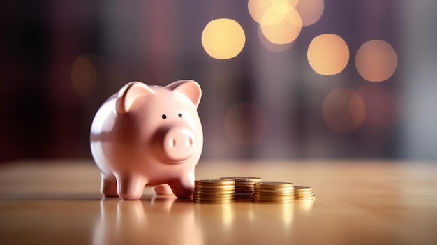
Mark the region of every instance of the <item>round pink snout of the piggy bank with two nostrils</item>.
[[161, 129], [158, 131], [158, 143], [164, 160], [177, 163], [193, 156], [195, 135], [184, 126]]

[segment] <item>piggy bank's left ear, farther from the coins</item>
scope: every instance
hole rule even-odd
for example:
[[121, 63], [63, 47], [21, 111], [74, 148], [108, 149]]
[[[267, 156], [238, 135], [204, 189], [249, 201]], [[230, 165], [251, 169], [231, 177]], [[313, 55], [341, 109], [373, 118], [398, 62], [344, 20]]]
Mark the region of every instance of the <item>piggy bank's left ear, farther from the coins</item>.
[[151, 93], [154, 93], [154, 91], [146, 84], [142, 82], [129, 82], [121, 87], [117, 95], [115, 111], [117, 114], [124, 114], [129, 111], [134, 101]]

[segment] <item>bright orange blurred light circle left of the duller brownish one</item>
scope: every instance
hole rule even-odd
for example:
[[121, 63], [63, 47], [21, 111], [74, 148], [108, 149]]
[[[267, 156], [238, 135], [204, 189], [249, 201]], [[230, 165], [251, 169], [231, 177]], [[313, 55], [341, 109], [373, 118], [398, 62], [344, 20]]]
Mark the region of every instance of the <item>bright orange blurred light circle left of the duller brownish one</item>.
[[335, 75], [346, 67], [349, 49], [336, 34], [316, 36], [308, 47], [307, 57], [311, 68], [321, 75]]

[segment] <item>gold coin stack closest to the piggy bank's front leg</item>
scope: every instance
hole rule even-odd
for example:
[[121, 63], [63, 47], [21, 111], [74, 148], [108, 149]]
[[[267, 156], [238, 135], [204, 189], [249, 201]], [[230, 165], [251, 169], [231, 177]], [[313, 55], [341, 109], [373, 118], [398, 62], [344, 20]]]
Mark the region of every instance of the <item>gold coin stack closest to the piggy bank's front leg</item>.
[[228, 203], [235, 200], [235, 180], [202, 179], [194, 181], [194, 202]]

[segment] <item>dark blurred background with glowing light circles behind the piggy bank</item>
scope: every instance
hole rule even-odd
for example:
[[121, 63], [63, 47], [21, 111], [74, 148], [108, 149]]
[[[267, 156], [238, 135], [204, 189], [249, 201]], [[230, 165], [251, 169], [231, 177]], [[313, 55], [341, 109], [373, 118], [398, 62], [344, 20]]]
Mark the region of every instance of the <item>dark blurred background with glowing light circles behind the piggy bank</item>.
[[127, 82], [199, 82], [202, 158], [437, 159], [437, 1], [1, 1], [0, 162], [91, 158]]

